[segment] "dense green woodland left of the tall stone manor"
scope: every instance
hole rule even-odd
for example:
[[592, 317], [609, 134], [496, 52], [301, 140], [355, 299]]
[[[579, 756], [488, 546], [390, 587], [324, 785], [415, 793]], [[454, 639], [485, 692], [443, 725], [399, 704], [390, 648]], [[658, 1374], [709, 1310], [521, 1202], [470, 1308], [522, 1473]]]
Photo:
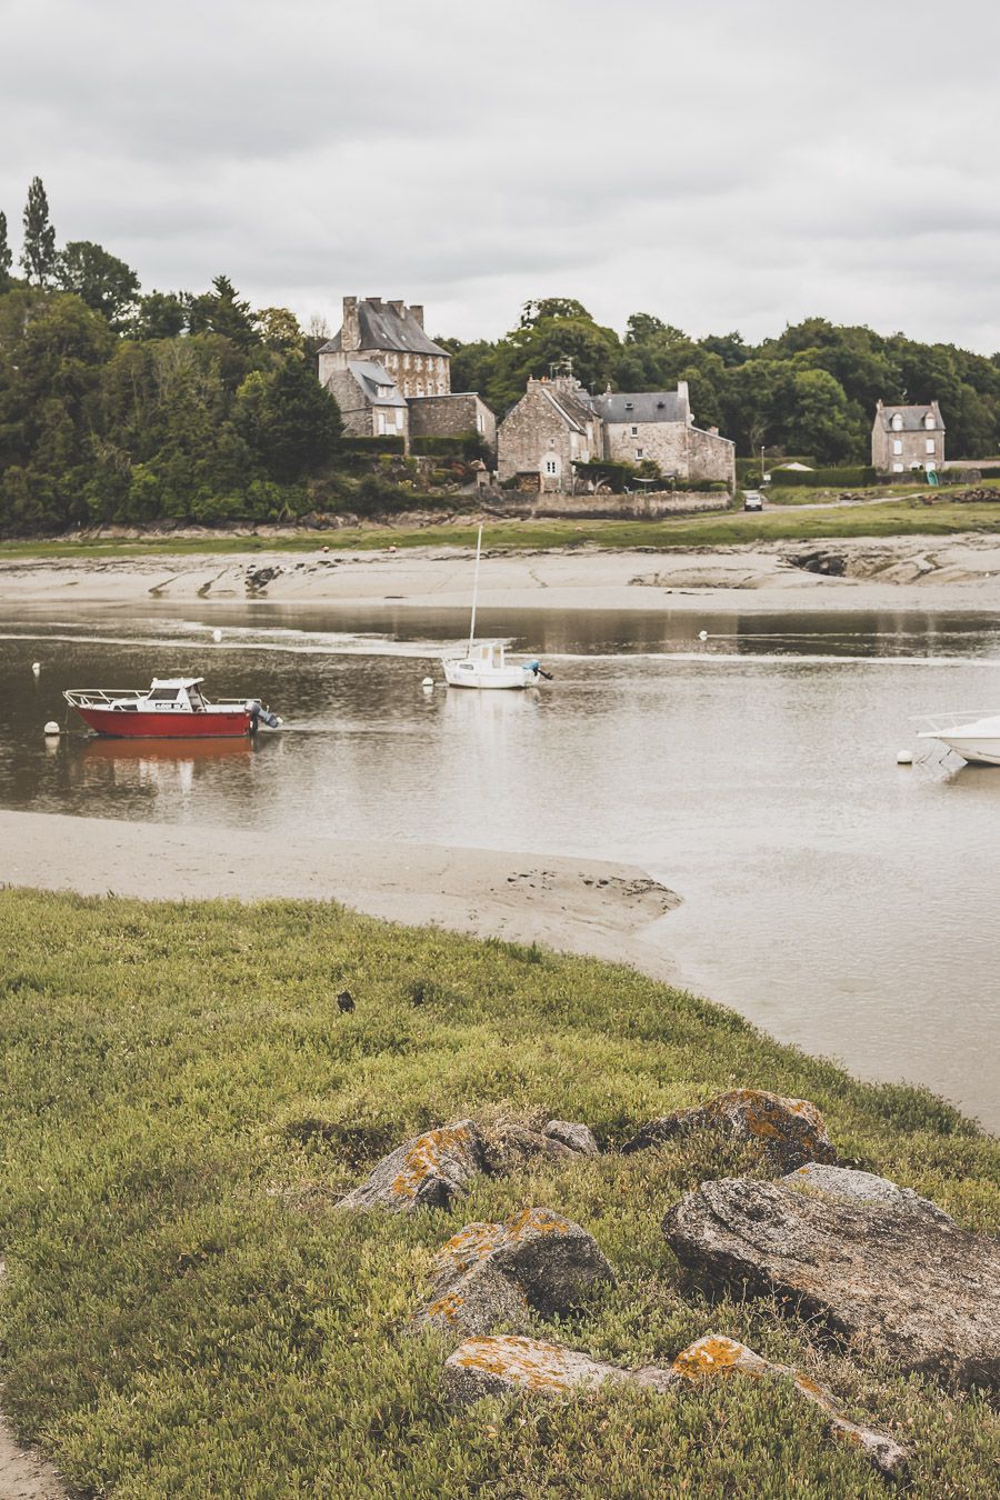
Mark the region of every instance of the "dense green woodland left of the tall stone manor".
[[142, 296], [100, 244], [57, 246], [37, 177], [19, 266], [0, 213], [0, 528], [279, 519], [336, 496], [325, 330], [253, 310], [226, 276]]

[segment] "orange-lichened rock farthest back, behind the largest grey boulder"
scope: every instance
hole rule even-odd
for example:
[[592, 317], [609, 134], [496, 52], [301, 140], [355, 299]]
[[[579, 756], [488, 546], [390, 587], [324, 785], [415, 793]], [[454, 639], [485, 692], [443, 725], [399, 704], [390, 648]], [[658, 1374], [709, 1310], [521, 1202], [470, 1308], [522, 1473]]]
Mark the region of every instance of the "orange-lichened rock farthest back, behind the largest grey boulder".
[[766, 1160], [783, 1173], [793, 1172], [807, 1161], [837, 1161], [816, 1104], [808, 1100], [786, 1100], [765, 1089], [732, 1089], [697, 1108], [675, 1110], [663, 1119], [649, 1120], [637, 1136], [625, 1142], [622, 1152], [646, 1150], [664, 1140], [706, 1128], [759, 1146]]

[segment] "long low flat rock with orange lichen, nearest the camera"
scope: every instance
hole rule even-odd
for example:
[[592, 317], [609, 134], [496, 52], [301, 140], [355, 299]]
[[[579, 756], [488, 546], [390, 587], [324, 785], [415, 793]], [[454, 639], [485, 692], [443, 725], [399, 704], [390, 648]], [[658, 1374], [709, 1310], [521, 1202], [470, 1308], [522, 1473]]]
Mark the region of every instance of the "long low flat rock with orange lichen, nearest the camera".
[[787, 1365], [772, 1365], [753, 1348], [732, 1338], [706, 1334], [682, 1350], [667, 1368], [646, 1365], [625, 1370], [609, 1365], [576, 1348], [546, 1344], [534, 1338], [469, 1338], [444, 1365], [444, 1388], [451, 1401], [468, 1406], [483, 1396], [544, 1395], [573, 1396], [603, 1384], [634, 1384], [649, 1390], [684, 1390], [688, 1384], [730, 1376], [787, 1377], [796, 1390], [819, 1406], [831, 1419], [831, 1431], [849, 1442], [888, 1474], [897, 1474], [907, 1461], [907, 1450], [888, 1432], [850, 1422], [837, 1400], [808, 1376]]

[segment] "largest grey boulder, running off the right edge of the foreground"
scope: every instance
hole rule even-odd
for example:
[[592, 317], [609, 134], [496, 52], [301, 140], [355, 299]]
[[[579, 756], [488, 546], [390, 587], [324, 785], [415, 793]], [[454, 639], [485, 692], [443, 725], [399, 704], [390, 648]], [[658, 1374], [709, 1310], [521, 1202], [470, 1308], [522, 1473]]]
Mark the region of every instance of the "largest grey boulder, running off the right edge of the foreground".
[[889, 1200], [703, 1182], [667, 1212], [684, 1266], [882, 1347], [906, 1371], [1000, 1384], [1000, 1242]]

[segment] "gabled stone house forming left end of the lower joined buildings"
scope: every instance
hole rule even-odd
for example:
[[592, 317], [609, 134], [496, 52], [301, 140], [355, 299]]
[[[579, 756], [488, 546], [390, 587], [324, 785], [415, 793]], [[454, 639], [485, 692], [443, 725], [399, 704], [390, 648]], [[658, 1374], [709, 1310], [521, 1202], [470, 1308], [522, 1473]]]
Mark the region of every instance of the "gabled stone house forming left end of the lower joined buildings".
[[571, 375], [529, 380], [525, 394], [496, 429], [501, 483], [523, 476], [540, 490], [573, 488], [573, 465], [604, 456], [601, 418]]

